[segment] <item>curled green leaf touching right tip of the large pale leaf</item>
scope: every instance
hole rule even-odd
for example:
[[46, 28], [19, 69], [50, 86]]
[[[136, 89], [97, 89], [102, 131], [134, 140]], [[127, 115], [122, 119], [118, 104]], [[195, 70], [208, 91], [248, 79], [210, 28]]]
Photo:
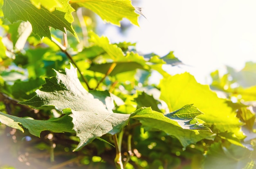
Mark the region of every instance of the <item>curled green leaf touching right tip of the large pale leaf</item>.
[[[182, 108], [180, 111], [184, 111]], [[177, 118], [173, 115], [152, 111], [151, 108], [141, 108], [131, 115], [132, 119], [137, 119], [141, 122], [145, 129], [161, 130], [166, 134], [176, 137], [184, 148], [190, 144], [208, 138], [213, 139], [214, 134], [209, 131], [209, 128], [198, 124], [190, 124], [190, 120]], [[200, 134], [198, 133], [200, 130]]]

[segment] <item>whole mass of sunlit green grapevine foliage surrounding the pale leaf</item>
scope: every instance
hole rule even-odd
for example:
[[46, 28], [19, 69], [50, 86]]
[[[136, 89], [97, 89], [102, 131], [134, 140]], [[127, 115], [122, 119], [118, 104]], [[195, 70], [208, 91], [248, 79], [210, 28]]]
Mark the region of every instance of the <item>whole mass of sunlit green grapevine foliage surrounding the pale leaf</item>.
[[[92, 30], [92, 13], [76, 13], [138, 25], [130, 0], [0, 2], [1, 138], [25, 145], [29, 136], [50, 160], [55, 151], [88, 168], [256, 167], [255, 63], [216, 70], [202, 85], [162, 69], [183, 64], [172, 51], [141, 55], [136, 44], [112, 44]], [[159, 85], [148, 83], [152, 71], [163, 76]]]

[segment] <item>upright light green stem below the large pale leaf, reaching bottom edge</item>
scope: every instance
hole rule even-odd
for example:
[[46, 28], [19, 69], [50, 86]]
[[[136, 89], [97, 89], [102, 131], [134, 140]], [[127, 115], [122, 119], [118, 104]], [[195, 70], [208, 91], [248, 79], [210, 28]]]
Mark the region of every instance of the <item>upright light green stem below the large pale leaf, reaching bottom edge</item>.
[[[123, 133], [120, 136], [121, 136], [121, 138], [123, 138]], [[122, 140], [122, 139], [120, 139], [120, 137], [119, 137], [119, 139], [117, 139], [117, 134], [113, 135], [113, 139], [115, 141], [115, 147], [116, 147], [115, 164], [118, 169], [124, 169], [124, 166], [122, 163], [121, 145], [120, 145], [120, 140]]]

